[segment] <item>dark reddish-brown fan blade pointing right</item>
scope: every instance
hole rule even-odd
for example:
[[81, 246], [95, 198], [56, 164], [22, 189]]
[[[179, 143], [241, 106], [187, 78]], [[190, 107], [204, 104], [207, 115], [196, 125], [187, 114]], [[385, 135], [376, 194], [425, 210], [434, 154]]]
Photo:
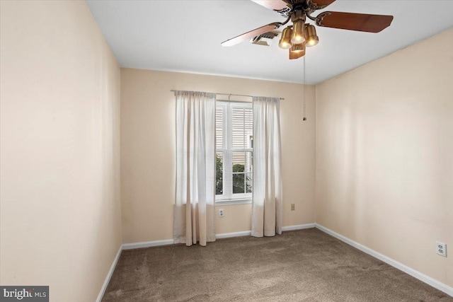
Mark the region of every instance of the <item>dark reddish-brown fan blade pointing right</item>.
[[316, 17], [316, 25], [326, 28], [358, 30], [367, 33], [379, 33], [389, 27], [394, 16], [368, 15], [366, 13], [340, 13], [326, 11]]

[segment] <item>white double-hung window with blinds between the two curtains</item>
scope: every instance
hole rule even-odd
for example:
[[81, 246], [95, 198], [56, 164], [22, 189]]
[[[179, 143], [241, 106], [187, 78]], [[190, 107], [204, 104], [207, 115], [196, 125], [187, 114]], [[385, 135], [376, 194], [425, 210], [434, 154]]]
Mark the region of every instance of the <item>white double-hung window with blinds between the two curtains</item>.
[[251, 103], [217, 101], [216, 202], [252, 198], [253, 108]]

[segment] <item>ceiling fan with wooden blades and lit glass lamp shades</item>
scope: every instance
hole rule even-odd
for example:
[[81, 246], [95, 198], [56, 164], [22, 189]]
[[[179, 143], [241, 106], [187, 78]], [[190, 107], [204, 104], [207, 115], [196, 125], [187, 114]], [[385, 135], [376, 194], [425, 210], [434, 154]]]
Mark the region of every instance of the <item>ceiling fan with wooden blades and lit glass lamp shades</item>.
[[338, 28], [344, 30], [358, 30], [367, 33], [379, 33], [389, 27], [393, 16], [369, 15], [366, 13], [340, 13], [338, 11], [324, 11], [318, 16], [312, 13], [326, 8], [335, 0], [252, 0], [266, 8], [270, 8], [286, 18], [284, 22], [274, 22], [261, 26], [242, 35], [238, 35], [222, 42], [222, 46], [233, 46], [240, 42], [253, 39], [259, 35], [272, 32], [291, 21], [282, 32], [280, 48], [289, 50], [289, 59], [299, 59], [305, 54], [305, 47], [318, 44], [314, 25], [306, 23], [306, 18], [318, 26]]

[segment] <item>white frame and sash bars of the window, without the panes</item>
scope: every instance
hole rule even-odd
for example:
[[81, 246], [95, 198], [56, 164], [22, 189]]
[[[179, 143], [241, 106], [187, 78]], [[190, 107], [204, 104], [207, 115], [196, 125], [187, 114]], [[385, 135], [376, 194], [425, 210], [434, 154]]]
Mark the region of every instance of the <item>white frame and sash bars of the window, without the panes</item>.
[[[232, 112], [233, 108], [244, 108], [250, 109], [253, 113], [253, 105], [251, 102], [242, 102], [242, 101], [232, 101], [232, 100], [216, 100], [216, 111], [217, 108], [222, 108], [222, 148], [217, 148], [217, 136], [216, 136], [216, 155], [217, 153], [222, 153], [222, 194], [215, 194], [215, 202], [222, 204], [249, 204], [253, 198], [253, 185], [252, 192], [250, 193], [233, 193], [233, 187], [228, 187], [226, 184], [229, 181], [226, 181], [227, 178], [231, 179], [230, 183], [233, 183], [233, 153], [234, 152], [250, 152], [250, 161], [251, 161], [251, 173], [252, 173], [252, 182], [253, 182], [253, 148], [251, 148], [251, 138], [253, 139], [253, 120], [252, 120], [252, 133], [245, 134], [244, 140], [247, 142], [248, 148], [243, 149], [234, 149], [232, 146]], [[252, 117], [253, 119], [253, 117]], [[217, 127], [217, 121], [216, 121]], [[215, 129], [217, 133], [217, 129]], [[246, 159], [245, 159], [246, 160]], [[217, 172], [217, 171], [216, 171]], [[244, 163], [244, 180], [247, 177], [246, 164]], [[217, 173], [216, 173], [217, 178]], [[232, 198], [234, 195], [234, 198]]]

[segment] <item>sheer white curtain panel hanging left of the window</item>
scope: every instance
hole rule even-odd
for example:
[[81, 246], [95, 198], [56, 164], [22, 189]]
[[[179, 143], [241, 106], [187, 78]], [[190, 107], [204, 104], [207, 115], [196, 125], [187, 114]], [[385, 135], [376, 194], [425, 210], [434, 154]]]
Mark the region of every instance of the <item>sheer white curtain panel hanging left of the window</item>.
[[175, 243], [214, 241], [215, 95], [176, 91]]

